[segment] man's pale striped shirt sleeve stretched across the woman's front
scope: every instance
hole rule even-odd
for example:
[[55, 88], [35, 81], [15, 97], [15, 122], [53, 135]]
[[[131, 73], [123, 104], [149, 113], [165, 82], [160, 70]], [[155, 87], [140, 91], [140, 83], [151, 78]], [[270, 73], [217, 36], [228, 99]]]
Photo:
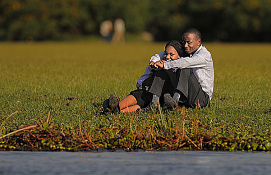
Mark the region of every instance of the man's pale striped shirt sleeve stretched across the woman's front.
[[208, 55], [195, 54], [193, 57], [182, 57], [174, 61], [165, 62], [165, 69], [204, 67], [208, 64]]

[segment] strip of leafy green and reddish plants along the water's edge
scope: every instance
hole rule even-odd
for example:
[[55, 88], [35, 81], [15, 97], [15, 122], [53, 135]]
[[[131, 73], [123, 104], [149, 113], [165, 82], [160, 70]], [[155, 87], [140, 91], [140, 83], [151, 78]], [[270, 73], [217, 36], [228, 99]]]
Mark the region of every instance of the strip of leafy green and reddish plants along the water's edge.
[[[197, 110], [199, 111], [199, 110]], [[176, 119], [176, 113], [181, 121]], [[173, 124], [163, 113], [149, 113], [150, 124], [141, 127], [130, 115], [130, 124], [122, 125], [119, 117], [114, 116], [118, 126], [90, 128], [82, 123], [79, 113], [77, 129], [62, 129], [49, 121], [37, 121], [0, 137], [0, 150], [29, 151], [156, 151], [156, 150], [247, 150], [270, 151], [271, 136], [232, 133], [227, 125], [215, 128], [199, 126], [198, 117], [191, 118], [192, 124], [186, 127], [186, 109], [175, 110]], [[83, 128], [82, 128], [83, 127]]]

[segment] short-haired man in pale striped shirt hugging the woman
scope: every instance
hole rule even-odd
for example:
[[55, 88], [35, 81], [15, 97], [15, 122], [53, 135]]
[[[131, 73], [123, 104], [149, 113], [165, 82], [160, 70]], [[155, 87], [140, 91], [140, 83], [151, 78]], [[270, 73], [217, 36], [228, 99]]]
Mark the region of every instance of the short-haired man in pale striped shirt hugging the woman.
[[[152, 93], [150, 107], [157, 107], [158, 101], [163, 95], [166, 106], [204, 107], [209, 105], [213, 92], [214, 69], [211, 53], [201, 45], [201, 33], [195, 28], [184, 31], [182, 40], [184, 42], [187, 57], [181, 57], [174, 61], [160, 59], [163, 51], [152, 56], [149, 66], [157, 70], [150, 71], [146, 68], [145, 73], [137, 81], [137, 87], [147, 77], [152, 75], [151, 85], [148, 92]], [[167, 74], [164, 69], [176, 69], [175, 75]], [[153, 74], [151, 73], [153, 72]], [[172, 80], [172, 79], [176, 80]], [[174, 91], [163, 94], [165, 84], [171, 83]]]

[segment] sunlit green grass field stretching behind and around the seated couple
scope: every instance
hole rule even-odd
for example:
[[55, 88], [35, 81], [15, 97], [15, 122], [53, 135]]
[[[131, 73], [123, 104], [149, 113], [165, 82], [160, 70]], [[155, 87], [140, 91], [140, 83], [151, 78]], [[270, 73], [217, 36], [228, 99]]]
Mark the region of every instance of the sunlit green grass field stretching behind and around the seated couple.
[[[109, 44], [101, 41], [0, 43], [0, 123], [2, 129], [42, 120], [75, 129], [79, 112], [91, 128], [111, 127], [114, 115], [100, 115], [103, 100], [115, 93], [125, 97], [135, 89], [150, 56], [165, 43]], [[270, 43], [203, 43], [211, 52], [215, 82], [209, 108], [200, 110], [200, 125], [228, 124], [232, 133], [271, 133]], [[76, 96], [69, 100], [69, 96]], [[191, 124], [188, 110], [185, 124]], [[134, 122], [147, 123], [149, 113], [134, 113]], [[129, 114], [120, 114], [129, 123]], [[172, 117], [165, 113], [165, 117]], [[178, 118], [178, 114], [176, 115]], [[179, 118], [179, 120], [181, 117]]]

